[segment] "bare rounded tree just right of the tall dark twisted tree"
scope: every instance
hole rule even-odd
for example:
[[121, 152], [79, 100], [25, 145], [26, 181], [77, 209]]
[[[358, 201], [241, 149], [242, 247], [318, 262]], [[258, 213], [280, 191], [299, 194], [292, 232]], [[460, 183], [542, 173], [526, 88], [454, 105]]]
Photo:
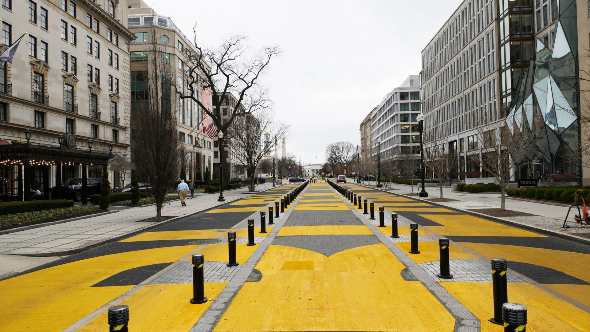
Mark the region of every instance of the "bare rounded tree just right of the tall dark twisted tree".
[[[256, 169], [264, 156], [273, 151], [274, 136], [281, 137], [289, 129], [288, 125], [274, 122], [269, 112], [263, 113], [260, 119], [250, 113], [235, 118], [232, 121], [229, 131], [232, 134], [232, 147], [234, 158], [244, 165], [251, 174], [250, 185], [254, 190], [254, 179]], [[265, 139], [264, 132], [272, 132], [273, 139]]]

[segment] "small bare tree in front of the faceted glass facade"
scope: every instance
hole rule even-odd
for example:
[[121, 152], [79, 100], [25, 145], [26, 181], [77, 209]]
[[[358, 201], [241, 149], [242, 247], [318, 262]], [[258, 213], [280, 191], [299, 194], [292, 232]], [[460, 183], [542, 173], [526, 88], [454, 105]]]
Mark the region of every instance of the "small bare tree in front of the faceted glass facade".
[[530, 128], [522, 113], [476, 128], [481, 158], [479, 154], [468, 155], [467, 158], [480, 164], [500, 184], [500, 210], [505, 207], [506, 181], [510, 178], [510, 171], [536, 158], [533, 152], [538, 149], [536, 135]]

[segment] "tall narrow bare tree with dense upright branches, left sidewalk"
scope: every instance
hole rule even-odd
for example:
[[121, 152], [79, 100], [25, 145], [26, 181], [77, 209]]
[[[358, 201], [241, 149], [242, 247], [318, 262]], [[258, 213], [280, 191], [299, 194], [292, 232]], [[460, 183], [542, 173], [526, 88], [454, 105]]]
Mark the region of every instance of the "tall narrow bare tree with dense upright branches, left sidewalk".
[[182, 147], [176, 128], [176, 110], [166, 103], [172, 98], [172, 69], [162, 61], [162, 50], [158, 43], [159, 34], [152, 29], [150, 48], [146, 53], [147, 75], [137, 72], [137, 81], [143, 81], [148, 96], [144, 102], [132, 109], [132, 161], [138, 176], [152, 185], [152, 196], [156, 201], [156, 217], [162, 216], [165, 197], [178, 180], [181, 167]]

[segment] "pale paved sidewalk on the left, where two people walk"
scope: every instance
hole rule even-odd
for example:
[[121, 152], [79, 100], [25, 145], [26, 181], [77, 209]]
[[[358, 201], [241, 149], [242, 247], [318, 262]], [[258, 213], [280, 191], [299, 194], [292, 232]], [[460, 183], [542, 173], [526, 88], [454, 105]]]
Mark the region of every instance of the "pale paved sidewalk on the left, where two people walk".
[[[281, 184], [277, 184], [280, 186]], [[256, 191], [272, 188], [260, 184]], [[162, 222], [142, 222], [156, 216], [155, 205], [145, 207], [109, 207], [116, 213], [86, 217], [58, 224], [38, 224], [37, 227], [0, 235], [0, 279], [53, 261], [64, 255], [113, 242], [124, 237], [144, 232], [174, 219], [209, 210], [243, 197], [252, 196], [248, 187], [224, 191], [224, 202], [217, 201], [219, 193], [195, 194], [187, 200], [187, 206], [178, 200], [169, 201], [162, 207], [163, 217], [172, 217]]]

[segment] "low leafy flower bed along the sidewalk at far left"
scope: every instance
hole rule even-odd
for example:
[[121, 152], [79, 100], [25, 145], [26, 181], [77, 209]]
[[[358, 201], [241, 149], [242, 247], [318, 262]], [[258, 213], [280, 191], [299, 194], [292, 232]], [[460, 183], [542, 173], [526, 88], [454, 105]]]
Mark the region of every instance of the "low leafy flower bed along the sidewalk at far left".
[[99, 207], [74, 206], [64, 207], [62, 209], [5, 214], [4, 216], [0, 216], [0, 230], [87, 216], [101, 211], [103, 210]]

